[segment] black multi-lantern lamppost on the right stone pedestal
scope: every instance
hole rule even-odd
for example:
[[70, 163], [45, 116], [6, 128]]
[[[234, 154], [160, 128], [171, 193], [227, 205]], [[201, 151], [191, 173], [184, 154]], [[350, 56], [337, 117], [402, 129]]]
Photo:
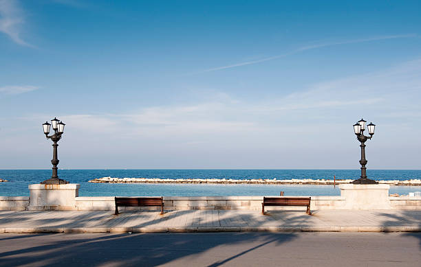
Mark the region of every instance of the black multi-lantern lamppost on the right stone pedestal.
[[360, 143], [361, 143], [360, 144], [360, 147], [361, 147], [361, 159], [360, 159], [361, 177], [358, 180], [354, 180], [354, 181], [351, 182], [351, 183], [356, 184], [356, 185], [378, 184], [378, 182], [376, 182], [374, 180], [367, 179], [367, 172], [366, 172], [367, 168], [365, 167], [365, 165], [367, 164], [367, 159], [365, 159], [365, 141], [367, 141], [368, 139], [371, 139], [371, 137], [373, 137], [374, 128], [376, 127], [376, 125], [374, 125], [372, 122], [367, 125], [370, 136], [366, 137], [364, 135], [365, 123], [366, 122], [367, 121], [365, 121], [364, 119], [361, 119], [356, 124], [354, 124], [354, 132], [357, 136], [358, 141], [360, 141]]

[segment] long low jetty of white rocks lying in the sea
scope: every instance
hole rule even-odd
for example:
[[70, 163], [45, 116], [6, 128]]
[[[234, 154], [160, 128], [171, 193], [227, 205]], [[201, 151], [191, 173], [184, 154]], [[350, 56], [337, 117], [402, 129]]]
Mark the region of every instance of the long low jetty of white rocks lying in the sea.
[[[334, 183], [343, 184], [350, 183], [353, 179], [343, 179], [334, 182], [331, 179], [288, 179], [288, 180], [277, 180], [273, 179], [169, 179], [169, 178], [113, 178], [113, 177], [102, 177], [96, 178], [89, 181], [89, 183], [208, 183], [208, 184], [250, 184], [250, 185], [333, 185]], [[421, 185], [421, 179], [411, 179], [405, 181], [399, 180], [380, 180], [378, 183], [386, 185]]]

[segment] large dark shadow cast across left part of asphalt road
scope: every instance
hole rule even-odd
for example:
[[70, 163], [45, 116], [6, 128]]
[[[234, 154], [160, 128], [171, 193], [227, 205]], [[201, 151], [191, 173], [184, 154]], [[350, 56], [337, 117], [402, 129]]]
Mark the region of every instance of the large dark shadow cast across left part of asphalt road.
[[[143, 234], [45, 234], [22, 235], [14, 246], [0, 241], [0, 266], [157, 266], [175, 259], [198, 255], [217, 246], [241, 244], [249, 247], [210, 264], [220, 266], [266, 244], [282, 244], [296, 237], [262, 233], [143, 233]], [[250, 246], [249, 246], [250, 245]]]

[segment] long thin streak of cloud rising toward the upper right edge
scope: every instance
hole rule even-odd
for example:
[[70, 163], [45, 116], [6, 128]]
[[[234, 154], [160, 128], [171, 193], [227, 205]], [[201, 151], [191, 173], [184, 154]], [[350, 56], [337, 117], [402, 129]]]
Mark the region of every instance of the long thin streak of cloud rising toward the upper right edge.
[[310, 50], [310, 49], [317, 49], [317, 48], [321, 48], [321, 47], [330, 47], [330, 46], [334, 46], [334, 45], [346, 45], [346, 44], [352, 44], [352, 43], [365, 43], [365, 42], [371, 42], [371, 41], [375, 41], [375, 40], [387, 40], [387, 39], [396, 39], [396, 38], [411, 38], [411, 37], [416, 37], [416, 36], [417, 36], [416, 34], [401, 34], [401, 35], [389, 35], [389, 36], [376, 36], [376, 37], [372, 37], [372, 38], [361, 38], [361, 39], [354, 39], [354, 40], [343, 40], [343, 41], [336, 41], [336, 42], [316, 43], [314, 45], [305, 45], [305, 46], [299, 47], [299, 48], [294, 49], [292, 51], [289, 51], [288, 53], [285, 53], [285, 54], [281, 54], [281, 55], [277, 55], [277, 56], [270, 56], [268, 58], [261, 58], [259, 60], [239, 62], [239, 63], [235, 63], [235, 64], [232, 64], [232, 65], [226, 65], [226, 66], [222, 66], [222, 67], [205, 69], [203, 71], [197, 71], [196, 73], [204, 73], [204, 72], [209, 72], [209, 71], [220, 71], [222, 69], [231, 69], [231, 68], [235, 68], [235, 67], [253, 65], [253, 64], [257, 64], [257, 63], [261, 63], [261, 62], [266, 62], [266, 61], [270, 61], [270, 60], [276, 60], [276, 59], [279, 59], [279, 58], [284, 58], [285, 56], [297, 54], [301, 51], [306, 51], [306, 50]]

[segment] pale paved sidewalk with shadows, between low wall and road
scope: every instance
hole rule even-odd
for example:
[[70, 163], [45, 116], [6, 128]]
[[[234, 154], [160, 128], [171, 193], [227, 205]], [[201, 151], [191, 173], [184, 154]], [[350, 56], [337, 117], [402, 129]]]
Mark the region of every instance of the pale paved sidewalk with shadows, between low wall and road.
[[0, 211], [0, 233], [421, 231], [421, 211]]

